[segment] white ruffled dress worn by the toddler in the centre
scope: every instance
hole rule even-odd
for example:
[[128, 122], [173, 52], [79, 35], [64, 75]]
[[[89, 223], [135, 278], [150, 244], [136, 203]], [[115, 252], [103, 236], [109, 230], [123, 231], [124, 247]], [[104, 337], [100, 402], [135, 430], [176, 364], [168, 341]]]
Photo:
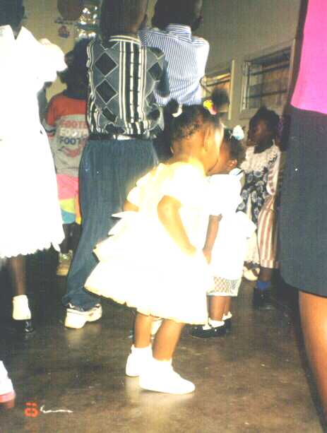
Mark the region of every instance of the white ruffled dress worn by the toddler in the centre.
[[[100, 263], [85, 287], [145, 315], [206, 323], [206, 291], [213, 285], [202, 253], [207, 188], [201, 167], [183, 162], [160, 164], [141, 178], [128, 196], [138, 212], [117, 215], [121, 219], [109, 238], [95, 249]], [[182, 203], [183, 225], [198, 247], [193, 256], [184, 254], [160, 223], [157, 205], [163, 196]]]

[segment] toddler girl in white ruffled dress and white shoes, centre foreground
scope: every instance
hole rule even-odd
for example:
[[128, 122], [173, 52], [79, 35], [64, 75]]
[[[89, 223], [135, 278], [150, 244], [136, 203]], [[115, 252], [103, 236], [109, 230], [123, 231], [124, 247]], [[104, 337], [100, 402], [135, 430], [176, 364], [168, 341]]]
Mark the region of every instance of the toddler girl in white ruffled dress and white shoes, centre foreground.
[[[172, 355], [184, 324], [208, 320], [206, 291], [213, 280], [200, 241], [206, 172], [218, 160], [221, 141], [218, 117], [201, 106], [184, 107], [172, 126], [174, 157], [138, 181], [111, 236], [95, 249], [100, 263], [85, 287], [137, 309], [126, 374], [140, 376], [141, 388], [150, 391], [195, 389], [174, 372]], [[155, 316], [164, 320], [152, 348]]]

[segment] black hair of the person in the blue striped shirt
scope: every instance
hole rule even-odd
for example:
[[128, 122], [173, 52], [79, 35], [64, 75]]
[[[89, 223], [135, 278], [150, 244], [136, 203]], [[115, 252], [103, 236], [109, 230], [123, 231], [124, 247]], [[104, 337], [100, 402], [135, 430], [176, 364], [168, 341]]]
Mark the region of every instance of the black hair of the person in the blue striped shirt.
[[199, 16], [196, 15], [196, 3], [199, 0], [157, 0], [152, 25], [165, 30], [168, 24], [183, 24], [194, 27]]

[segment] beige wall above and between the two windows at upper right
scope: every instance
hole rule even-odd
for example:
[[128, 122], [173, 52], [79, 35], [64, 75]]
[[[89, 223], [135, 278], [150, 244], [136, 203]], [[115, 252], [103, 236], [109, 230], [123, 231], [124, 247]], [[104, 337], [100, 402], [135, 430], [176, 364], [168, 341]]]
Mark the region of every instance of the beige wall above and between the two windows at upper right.
[[300, 0], [203, 0], [201, 35], [210, 42], [207, 71], [234, 60], [230, 124], [247, 124], [240, 115], [245, 57], [295, 38]]

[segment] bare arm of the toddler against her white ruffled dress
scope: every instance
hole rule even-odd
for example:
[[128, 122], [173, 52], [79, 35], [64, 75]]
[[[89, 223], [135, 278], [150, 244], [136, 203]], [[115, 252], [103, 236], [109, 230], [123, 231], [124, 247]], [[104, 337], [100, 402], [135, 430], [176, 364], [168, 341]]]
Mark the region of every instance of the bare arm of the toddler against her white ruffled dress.
[[189, 241], [186, 230], [179, 215], [181, 203], [174, 197], [164, 196], [157, 205], [157, 215], [170, 237], [186, 254], [194, 254], [196, 248]]

